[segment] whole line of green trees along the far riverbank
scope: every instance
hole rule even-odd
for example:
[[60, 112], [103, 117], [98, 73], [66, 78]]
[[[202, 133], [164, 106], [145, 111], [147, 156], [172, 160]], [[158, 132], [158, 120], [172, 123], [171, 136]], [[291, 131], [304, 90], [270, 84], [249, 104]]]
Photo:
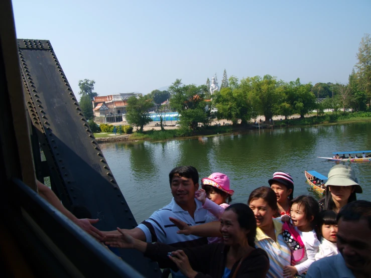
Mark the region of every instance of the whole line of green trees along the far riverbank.
[[[349, 75], [348, 83], [311, 83], [302, 84], [300, 79], [285, 82], [271, 75], [246, 77], [238, 80], [235, 76], [227, 78], [226, 70], [219, 91], [210, 95], [210, 80], [206, 84], [182, 84], [176, 79], [167, 91], [154, 90], [142, 97], [128, 99], [127, 120], [132, 125], [140, 127], [151, 121], [148, 110], [156, 106], [161, 114], [161, 103], [170, 100], [168, 106], [180, 114], [181, 128], [195, 130], [198, 124], [210, 124], [215, 117], [231, 120], [233, 124], [247, 124], [258, 115], [264, 115], [266, 120], [281, 115], [285, 118], [293, 114], [300, 117], [313, 110], [323, 114], [325, 109], [334, 112], [351, 108], [354, 111], [369, 109], [371, 104], [371, 38], [365, 34], [359, 44], [356, 54], [357, 63]], [[217, 80], [216, 74], [215, 78]], [[93, 92], [94, 81], [85, 79], [79, 81], [80, 106], [97, 94]], [[84, 97], [84, 98], [83, 98]], [[86, 100], [85, 100], [86, 99]], [[208, 101], [210, 100], [211, 101]], [[323, 101], [318, 101], [323, 99]], [[86, 104], [87, 106], [87, 104]], [[217, 112], [212, 113], [212, 108]], [[368, 108], [367, 108], [368, 107]], [[83, 107], [82, 107], [83, 109]], [[84, 111], [84, 109], [83, 109]], [[87, 113], [84, 111], [84, 114]], [[161, 127], [162, 121], [161, 121]]]

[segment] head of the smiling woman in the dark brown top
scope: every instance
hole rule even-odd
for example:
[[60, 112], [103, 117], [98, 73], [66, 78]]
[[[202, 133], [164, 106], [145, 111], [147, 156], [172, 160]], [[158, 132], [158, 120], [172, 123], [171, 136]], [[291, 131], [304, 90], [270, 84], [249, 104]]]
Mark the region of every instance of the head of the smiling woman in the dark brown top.
[[232, 204], [220, 218], [220, 232], [226, 245], [255, 247], [257, 223], [253, 211], [245, 204]]

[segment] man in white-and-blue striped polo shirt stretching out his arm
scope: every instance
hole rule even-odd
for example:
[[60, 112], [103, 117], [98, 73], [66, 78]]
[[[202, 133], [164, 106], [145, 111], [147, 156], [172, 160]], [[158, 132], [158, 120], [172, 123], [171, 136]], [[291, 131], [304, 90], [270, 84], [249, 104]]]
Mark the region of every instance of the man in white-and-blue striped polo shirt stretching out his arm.
[[[206, 223], [207, 210], [194, 198], [198, 190], [198, 172], [192, 166], [179, 166], [169, 174], [173, 199], [167, 206], [155, 211], [150, 218], [136, 228], [126, 230], [134, 238], [146, 242], [161, 242], [175, 247], [194, 247], [207, 244], [207, 238], [196, 235], [178, 234], [179, 230], [169, 217], [177, 218], [188, 225]], [[118, 233], [118, 231], [104, 232]], [[184, 277], [179, 271], [173, 277]]]

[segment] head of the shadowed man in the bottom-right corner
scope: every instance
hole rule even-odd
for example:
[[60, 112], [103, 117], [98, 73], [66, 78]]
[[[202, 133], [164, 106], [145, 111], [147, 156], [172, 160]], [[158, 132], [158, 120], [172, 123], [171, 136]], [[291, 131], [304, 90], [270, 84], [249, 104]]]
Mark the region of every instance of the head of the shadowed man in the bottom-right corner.
[[337, 248], [353, 273], [371, 273], [371, 202], [354, 201], [337, 215]]

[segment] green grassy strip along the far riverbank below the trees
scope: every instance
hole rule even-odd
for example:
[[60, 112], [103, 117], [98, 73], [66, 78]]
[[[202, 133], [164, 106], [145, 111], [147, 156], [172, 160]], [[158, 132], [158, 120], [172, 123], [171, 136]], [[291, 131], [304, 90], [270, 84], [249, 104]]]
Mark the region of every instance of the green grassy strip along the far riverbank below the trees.
[[[325, 114], [323, 116], [310, 116], [306, 118], [295, 118], [288, 120], [275, 121], [275, 127], [284, 127], [292, 125], [314, 125], [314, 124], [326, 124], [326, 123], [336, 123], [336, 122], [346, 122], [346, 121], [358, 121], [358, 120], [371, 120], [371, 112], [355, 112], [355, 113], [345, 113], [345, 114]], [[243, 132], [250, 130], [253, 127], [241, 126], [241, 125], [221, 125], [221, 126], [206, 126], [192, 132], [189, 129], [167, 129], [164, 131], [161, 130], [149, 130], [144, 131], [143, 133], [134, 132], [130, 134], [129, 140], [139, 141], [139, 140], [148, 140], [148, 141], [165, 141], [171, 140], [173, 138], [188, 137], [188, 136], [208, 136], [216, 134], [227, 134], [233, 132]], [[113, 133], [94, 133], [96, 138], [99, 137], [114, 137]], [[117, 133], [117, 135], [119, 135]]]

